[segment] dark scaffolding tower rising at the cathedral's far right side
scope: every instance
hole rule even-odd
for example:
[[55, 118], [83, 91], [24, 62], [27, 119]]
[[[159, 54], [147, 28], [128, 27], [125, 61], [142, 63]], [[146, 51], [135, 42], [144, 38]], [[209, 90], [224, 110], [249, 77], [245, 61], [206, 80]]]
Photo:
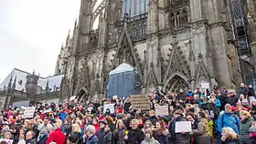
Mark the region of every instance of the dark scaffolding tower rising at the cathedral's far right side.
[[[243, 82], [251, 84], [254, 78], [254, 66], [251, 57], [251, 48], [249, 46], [249, 36], [247, 31], [248, 21], [244, 14], [241, 0], [227, 1], [231, 26], [233, 29], [233, 38], [235, 40], [239, 58], [240, 76]], [[250, 67], [246, 67], [245, 62], [249, 64]], [[252, 76], [252, 78], [249, 79], [248, 76]]]

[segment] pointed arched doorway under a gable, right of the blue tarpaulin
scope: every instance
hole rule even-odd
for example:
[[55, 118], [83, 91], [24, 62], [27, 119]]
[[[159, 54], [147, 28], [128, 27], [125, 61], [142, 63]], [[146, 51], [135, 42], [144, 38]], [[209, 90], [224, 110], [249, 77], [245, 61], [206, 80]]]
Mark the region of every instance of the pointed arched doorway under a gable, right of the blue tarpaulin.
[[165, 92], [178, 93], [180, 89], [187, 91], [190, 88], [188, 79], [182, 74], [174, 74], [166, 80]]

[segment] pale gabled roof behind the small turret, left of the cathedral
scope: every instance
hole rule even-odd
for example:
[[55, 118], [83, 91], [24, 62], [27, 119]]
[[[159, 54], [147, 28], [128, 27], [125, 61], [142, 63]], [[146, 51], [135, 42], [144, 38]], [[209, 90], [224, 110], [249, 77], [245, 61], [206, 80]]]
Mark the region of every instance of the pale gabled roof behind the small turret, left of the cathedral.
[[[16, 77], [16, 90], [24, 90], [26, 92], [26, 82], [27, 82], [27, 75], [32, 75], [26, 71], [14, 68], [14, 70], [5, 77], [5, 80], [0, 84], [0, 91], [4, 89], [4, 87], [7, 87], [9, 84], [10, 79], [12, 78], [12, 85], [14, 83], [15, 77]], [[43, 90], [47, 86], [51, 90], [54, 90], [54, 87], [60, 87], [61, 80], [63, 75], [57, 75], [52, 77], [39, 77], [37, 81], [37, 87], [42, 88]], [[40, 90], [37, 90], [37, 93], [39, 94]]]

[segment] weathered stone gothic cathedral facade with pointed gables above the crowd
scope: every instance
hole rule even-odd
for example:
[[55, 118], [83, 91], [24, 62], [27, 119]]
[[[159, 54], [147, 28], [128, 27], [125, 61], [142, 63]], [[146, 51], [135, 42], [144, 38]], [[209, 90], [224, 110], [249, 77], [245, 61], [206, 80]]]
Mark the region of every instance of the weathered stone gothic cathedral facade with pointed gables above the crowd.
[[61, 95], [105, 94], [109, 73], [134, 67], [144, 94], [239, 85], [225, 0], [81, 0], [80, 17], [61, 47]]

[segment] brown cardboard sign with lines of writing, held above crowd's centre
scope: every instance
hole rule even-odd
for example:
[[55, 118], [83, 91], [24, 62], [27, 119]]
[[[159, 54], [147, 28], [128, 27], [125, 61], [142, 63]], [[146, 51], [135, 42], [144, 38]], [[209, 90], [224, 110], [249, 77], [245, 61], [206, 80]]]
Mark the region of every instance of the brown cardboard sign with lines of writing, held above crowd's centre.
[[132, 95], [131, 96], [132, 108], [148, 110], [150, 109], [148, 97], [146, 95]]

